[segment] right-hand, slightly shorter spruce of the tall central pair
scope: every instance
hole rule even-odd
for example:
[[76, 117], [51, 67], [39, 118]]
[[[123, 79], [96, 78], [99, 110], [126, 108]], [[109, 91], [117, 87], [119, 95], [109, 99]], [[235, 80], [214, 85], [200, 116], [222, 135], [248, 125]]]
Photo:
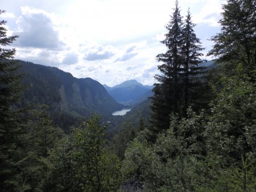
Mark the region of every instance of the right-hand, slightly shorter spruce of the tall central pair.
[[192, 23], [191, 14], [188, 10], [188, 14], [185, 19], [185, 24], [183, 27], [183, 73], [181, 73], [181, 87], [183, 93], [182, 103], [182, 115], [187, 116], [188, 106], [192, 106], [193, 110], [199, 110], [203, 107], [201, 104], [204, 103], [202, 97], [204, 93], [202, 92], [203, 87], [205, 87], [204, 81], [204, 67], [199, 66], [201, 63], [200, 56], [203, 56], [201, 51], [204, 50], [201, 46], [200, 39], [196, 37], [193, 28], [196, 24]]

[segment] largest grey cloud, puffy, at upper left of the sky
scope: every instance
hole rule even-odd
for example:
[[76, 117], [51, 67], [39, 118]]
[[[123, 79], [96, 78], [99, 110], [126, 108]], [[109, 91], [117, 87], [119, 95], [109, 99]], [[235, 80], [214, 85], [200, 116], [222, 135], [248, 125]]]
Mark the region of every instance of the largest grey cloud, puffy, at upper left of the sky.
[[22, 16], [17, 24], [19, 31], [15, 35], [19, 38], [14, 43], [17, 47], [56, 49], [63, 45], [58, 32], [53, 30], [51, 18], [43, 10], [22, 7]]

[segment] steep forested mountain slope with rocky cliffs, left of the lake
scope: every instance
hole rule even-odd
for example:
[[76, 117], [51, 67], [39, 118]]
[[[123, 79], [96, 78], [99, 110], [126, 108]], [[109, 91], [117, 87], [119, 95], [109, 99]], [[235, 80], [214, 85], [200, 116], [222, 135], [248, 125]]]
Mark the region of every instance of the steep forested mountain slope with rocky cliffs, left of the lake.
[[24, 73], [24, 103], [40, 103], [52, 111], [73, 116], [88, 116], [92, 113], [109, 115], [122, 105], [114, 101], [104, 87], [91, 78], [75, 78], [60, 69], [19, 61]]

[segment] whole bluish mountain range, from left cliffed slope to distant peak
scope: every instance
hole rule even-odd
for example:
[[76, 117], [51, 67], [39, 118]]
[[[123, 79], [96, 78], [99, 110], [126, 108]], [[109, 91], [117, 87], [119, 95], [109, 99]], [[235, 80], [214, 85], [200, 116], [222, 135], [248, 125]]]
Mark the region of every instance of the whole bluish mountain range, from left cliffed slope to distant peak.
[[[109, 120], [114, 111], [121, 110], [125, 105], [133, 107], [130, 114], [137, 114], [137, 108], [150, 110], [148, 97], [153, 95], [153, 86], [129, 80], [109, 87], [91, 78], [75, 78], [71, 73], [54, 67], [21, 60], [18, 63], [21, 65], [19, 71], [24, 73], [23, 83], [27, 86], [21, 105], [48, 105], [53, 120], [61, 124], [60, 127], [69, 127], [76, 121], [74, 118], [88, 117], [92, 113]], [[207, 70], [216, 66], [214, 61], [201, 65]], [[147, 105], [141, 105], [145, 102]]]

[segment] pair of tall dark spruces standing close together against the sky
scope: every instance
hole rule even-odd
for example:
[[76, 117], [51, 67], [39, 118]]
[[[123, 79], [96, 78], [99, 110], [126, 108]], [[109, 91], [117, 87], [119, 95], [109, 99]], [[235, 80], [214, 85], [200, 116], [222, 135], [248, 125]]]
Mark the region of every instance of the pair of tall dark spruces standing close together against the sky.
[[[180, 118], [187, 116], [188, 106], [201, 108], [200, 89], [203, 85], [203, 68], [199, 67], [201, 51], [200, 40], [196, 37], [188, 11], [185, 23], [182, 21], [178, 2], [166, 28], [166, 39], [161, 41], [167, 47], [166, 53], [156, 56], [163, 64], [158, 66], [161, 74], [156, 74], [159, 82], [153, 89], [151, 127], [148, 139], [154, 141], [156, 133], [170, 126], [170, 114]], [[176, 131], [176, 130], [174, 130]]]

